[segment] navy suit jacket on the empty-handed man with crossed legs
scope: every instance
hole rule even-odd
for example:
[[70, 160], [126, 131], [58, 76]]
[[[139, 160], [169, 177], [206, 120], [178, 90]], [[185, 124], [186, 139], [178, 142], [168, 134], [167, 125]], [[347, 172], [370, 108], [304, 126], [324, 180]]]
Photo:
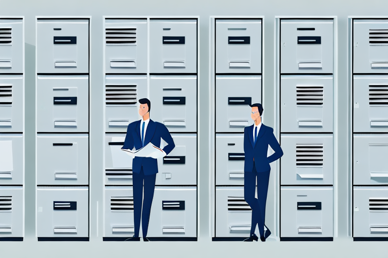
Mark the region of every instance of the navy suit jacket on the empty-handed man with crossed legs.
[[[280, 148], [273, 129], [269, 126], [261, 124], [259, 134], [256, 139], [256, 144], [253, 141], [253, 124], [244, 128], [244, 152], [245, 162], [244, 171], [253, 171], [253, 158], [255, 158], [255, 166], [257, 172], [264, 172], [271, 169], [269, 163], [283, 156], [283, 151]], [[268, 145], [274, 150], [274, 154], [267, 158]]]

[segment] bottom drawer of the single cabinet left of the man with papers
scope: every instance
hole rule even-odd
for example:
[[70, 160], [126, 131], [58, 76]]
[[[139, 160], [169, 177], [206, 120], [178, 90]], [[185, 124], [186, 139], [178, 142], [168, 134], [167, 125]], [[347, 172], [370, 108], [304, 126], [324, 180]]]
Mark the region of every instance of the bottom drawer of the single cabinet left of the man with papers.
[[88, 187], [38, 186], [38, 237], [88, 237]]

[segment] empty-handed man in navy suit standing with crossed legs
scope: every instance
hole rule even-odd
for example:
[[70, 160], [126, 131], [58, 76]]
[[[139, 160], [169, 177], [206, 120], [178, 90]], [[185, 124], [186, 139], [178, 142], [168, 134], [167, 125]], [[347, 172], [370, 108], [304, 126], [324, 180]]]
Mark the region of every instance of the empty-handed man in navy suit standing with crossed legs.
[[[251, 117], [255, 122], [244, 128], [244, 199], [252, 208], [252, 224], [250, 237], [244, 241], [258, 240], [255, 234], [258, 225], [260, 240], [264, 242], [271, 234], [268, 228], [264, 233], [265, 204], [271, 171], [269, 163], [283, 156], [283, 151], [273, 134], [273, 129], [261, 123], [262, 105], [256, 103], [251, 107]], [[275, 152], [269, 157], [267, 157], [268, 145]], [[256, 179], [258, 199], [255, 198]]]

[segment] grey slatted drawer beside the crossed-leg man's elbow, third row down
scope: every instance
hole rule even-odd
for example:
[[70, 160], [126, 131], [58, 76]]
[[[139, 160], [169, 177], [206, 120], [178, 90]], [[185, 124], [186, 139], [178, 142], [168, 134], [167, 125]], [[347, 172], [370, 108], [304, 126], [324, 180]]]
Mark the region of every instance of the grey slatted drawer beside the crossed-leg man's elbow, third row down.
[[333, 136], [281, 134], [281, 185], [333, 184]]

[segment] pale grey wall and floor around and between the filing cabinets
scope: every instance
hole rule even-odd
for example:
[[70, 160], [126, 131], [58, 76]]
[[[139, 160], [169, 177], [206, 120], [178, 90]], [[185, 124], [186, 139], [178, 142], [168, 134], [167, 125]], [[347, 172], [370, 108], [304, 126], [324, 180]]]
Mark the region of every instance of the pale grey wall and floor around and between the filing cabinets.
[[[386, 242], [353, 242], [348, 237], [348, 82], [347, 17], [384, 16], [385, 0], [0, 0], [0, 16], [25, 16], [25, 117], [26, 180], [24, 242], [0, 242], [0, 257], [236, 257], [271, 255], [275, 257], [354, 256], [387, 257]], [[35, 16], [91, 16], [91, 235], [89, 242], [37, 242], [35, 238]], [[200, 99], [201, 134], [199, 167], [198, 242], [103, 242], [103, 15], [115, 16], [200, 16]], [[275, 16], [338, 16], [338, 238], [334, 242], [211, 242], [209, 180], [209, 17], [265, 16], [266, 123], [274, 126], [274, 21]], [[272, 115], [271, 115], [272, 114]], [[99, 202], [99, 210], [96, 203]]]

